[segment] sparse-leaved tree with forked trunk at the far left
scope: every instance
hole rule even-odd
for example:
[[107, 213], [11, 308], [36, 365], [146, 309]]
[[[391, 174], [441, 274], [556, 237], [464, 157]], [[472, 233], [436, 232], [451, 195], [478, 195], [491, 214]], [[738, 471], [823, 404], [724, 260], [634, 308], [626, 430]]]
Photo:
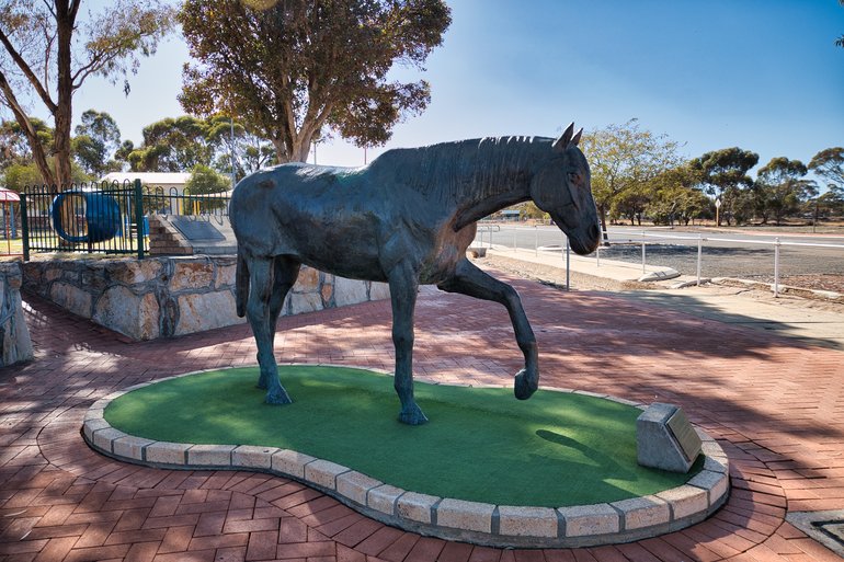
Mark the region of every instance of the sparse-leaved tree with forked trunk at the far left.
[[[116, 0], [80, 18], [82, 0], [0, 0], [0, 99], [30, 144], [44, 182], [71, 180], [72, 98], [91, 76], [116, 82], [156, 51], [172, 9], [158, 0]], [[30, 118], [41, 104], [53, 118], [55, 168]]]

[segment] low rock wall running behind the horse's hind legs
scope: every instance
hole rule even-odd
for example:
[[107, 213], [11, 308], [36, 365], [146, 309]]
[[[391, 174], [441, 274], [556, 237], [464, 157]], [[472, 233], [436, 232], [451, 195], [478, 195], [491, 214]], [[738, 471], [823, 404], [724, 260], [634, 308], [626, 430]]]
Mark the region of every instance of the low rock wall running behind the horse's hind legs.
[[[235, 256], [56, 260], [24, 264], [24, 289], [134, 340], [246, 322], [235, 310]], [[387, 285], [303, 266], [282, 314], [389, 298]]]

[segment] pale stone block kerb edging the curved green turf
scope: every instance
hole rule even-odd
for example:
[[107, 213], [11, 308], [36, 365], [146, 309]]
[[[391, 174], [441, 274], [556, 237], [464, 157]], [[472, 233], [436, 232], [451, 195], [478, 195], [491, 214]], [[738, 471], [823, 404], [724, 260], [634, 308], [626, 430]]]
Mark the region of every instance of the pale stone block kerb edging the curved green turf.
[[[324, 365], [323, 365], [324, 366]], [[347, 367], [347, 366], [346, 366]], [[703, 440], [704, 469], [685, 484], [654, 495], [571, 507], [493, 505], [402, 490], [341, 464], [288, 449], [252, 445], [194, 445], [127, 435], [103, 417], [112, 400], [156, 382], [129, 387], [94, 402], [83, 437], [93, 449], [118, 460], [167, 469], [231, 469], [266, 472], [317, 489], [349, 507], [394, 527], [446, 540], [489, 547], [578, 548], [629, 542], [700, 523], [727, 502], [729, 460], [715, 439]], [[369, 369], [374, 370], [374, 369]], [[545, 388], [549, 391], [571, 392]], [[606, 394], [574, 391], [645, 409]]]

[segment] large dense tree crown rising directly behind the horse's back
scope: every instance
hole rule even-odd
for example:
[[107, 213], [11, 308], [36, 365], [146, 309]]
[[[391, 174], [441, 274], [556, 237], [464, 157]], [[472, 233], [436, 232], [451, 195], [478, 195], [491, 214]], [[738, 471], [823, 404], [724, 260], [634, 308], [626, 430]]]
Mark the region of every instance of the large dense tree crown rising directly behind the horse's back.
[[196, 61], [183, 71], [182, 106], [233, 113], [286, 162], [304, 161], [324, 126], [381, 145], [422, 112], [427, 83], [388, 72], [422, 69], [450, 15], [443, 0], [186, 0], [179, 21]]

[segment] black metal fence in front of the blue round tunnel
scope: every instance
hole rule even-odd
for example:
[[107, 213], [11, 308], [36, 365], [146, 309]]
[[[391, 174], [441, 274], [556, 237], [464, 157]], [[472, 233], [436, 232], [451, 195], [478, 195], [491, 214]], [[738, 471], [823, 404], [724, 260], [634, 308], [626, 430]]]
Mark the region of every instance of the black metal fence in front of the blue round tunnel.
[[27, 186], [21, 194], [23, 259], [50, 252], [149, 252], [150, 215], [228, 216], [228, 194], [185, 195], [134, 182]]

